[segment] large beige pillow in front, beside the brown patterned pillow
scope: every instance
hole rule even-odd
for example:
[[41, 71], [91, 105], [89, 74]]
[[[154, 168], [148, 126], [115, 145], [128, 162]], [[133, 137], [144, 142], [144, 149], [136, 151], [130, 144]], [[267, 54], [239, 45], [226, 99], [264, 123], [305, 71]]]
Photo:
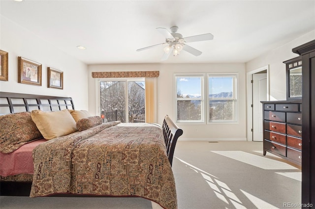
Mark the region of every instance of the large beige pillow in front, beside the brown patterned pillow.
[[37, 129], [47, 140], [78, 131], [75, 120], [67, 109], [56, 112], [33, 110], [31, 116]]

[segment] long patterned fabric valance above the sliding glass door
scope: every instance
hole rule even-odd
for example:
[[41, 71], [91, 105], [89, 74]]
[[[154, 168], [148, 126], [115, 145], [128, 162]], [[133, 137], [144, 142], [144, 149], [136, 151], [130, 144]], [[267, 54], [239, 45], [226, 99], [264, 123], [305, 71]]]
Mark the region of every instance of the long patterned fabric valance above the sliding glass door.
[[92, 78], [154, 78], [159, 71], [92, 72]]

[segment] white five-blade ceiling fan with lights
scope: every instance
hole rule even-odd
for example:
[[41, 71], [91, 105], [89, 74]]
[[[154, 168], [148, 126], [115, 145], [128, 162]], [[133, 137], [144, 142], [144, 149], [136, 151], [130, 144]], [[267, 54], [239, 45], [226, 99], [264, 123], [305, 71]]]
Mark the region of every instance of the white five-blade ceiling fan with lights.
[[207, 41], [207, 40], [212, 40], [213, 35], [211, 33], [206, 33], [206, 34], [201, 34], [201, 35], [194, 35], [194, 36], [189, 36], [183, 38], [182, 34], [177, 33], [178, 27], [177, 26], [172, 26], [171, 32], [169, 32], [166, 28], [163, 27], [158, 27], [157, 30], [166, 38], [165, 43], [161, 44], [156, 44], [153, 46], [145, 47], [136, 50], [137, 52], [142, 51], [142, 50], [147, 50], [153, 47], [157, 47], [159, 45], [167, 45], [164, 47], [164, 54], [161, 58], [161, 60], [166, 60], [169, 55], [173, 52], [173, 55], [176, 56], [178, 55], [182, 50], [189, 52], [195, 56], [199, 56], [202, 52], [199, 50], [196, 50], [186, 43], [189, 42], [195, 42], [195, 41]]

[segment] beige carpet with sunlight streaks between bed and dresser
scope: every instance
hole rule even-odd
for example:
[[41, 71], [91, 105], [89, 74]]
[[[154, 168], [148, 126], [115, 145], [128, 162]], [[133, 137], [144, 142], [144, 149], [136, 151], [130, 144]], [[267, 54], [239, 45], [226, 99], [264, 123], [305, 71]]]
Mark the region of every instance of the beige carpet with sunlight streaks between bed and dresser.
[[301, 168], [271, 153], [263, 156], [262, 147], [260, 142], [179, 142], [174, 156], [179, 208], [277, 209], [300, 203]]

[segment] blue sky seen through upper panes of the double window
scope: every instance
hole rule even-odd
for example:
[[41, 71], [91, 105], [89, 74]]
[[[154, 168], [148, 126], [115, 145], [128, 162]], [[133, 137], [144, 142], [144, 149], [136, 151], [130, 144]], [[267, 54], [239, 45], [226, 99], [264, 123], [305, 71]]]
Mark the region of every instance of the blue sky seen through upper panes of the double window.
[[[177, 89], [183, 95], [201, 95], [201, 78], [198, 77], [180, 77], [177, 79]], [[215, 88], [213, 88], [213, 86]], [[231, 77], [215, 77], [209, 79], [209, 94], [218, 94], [221, 92], [233, 91], [233, 82]]]

